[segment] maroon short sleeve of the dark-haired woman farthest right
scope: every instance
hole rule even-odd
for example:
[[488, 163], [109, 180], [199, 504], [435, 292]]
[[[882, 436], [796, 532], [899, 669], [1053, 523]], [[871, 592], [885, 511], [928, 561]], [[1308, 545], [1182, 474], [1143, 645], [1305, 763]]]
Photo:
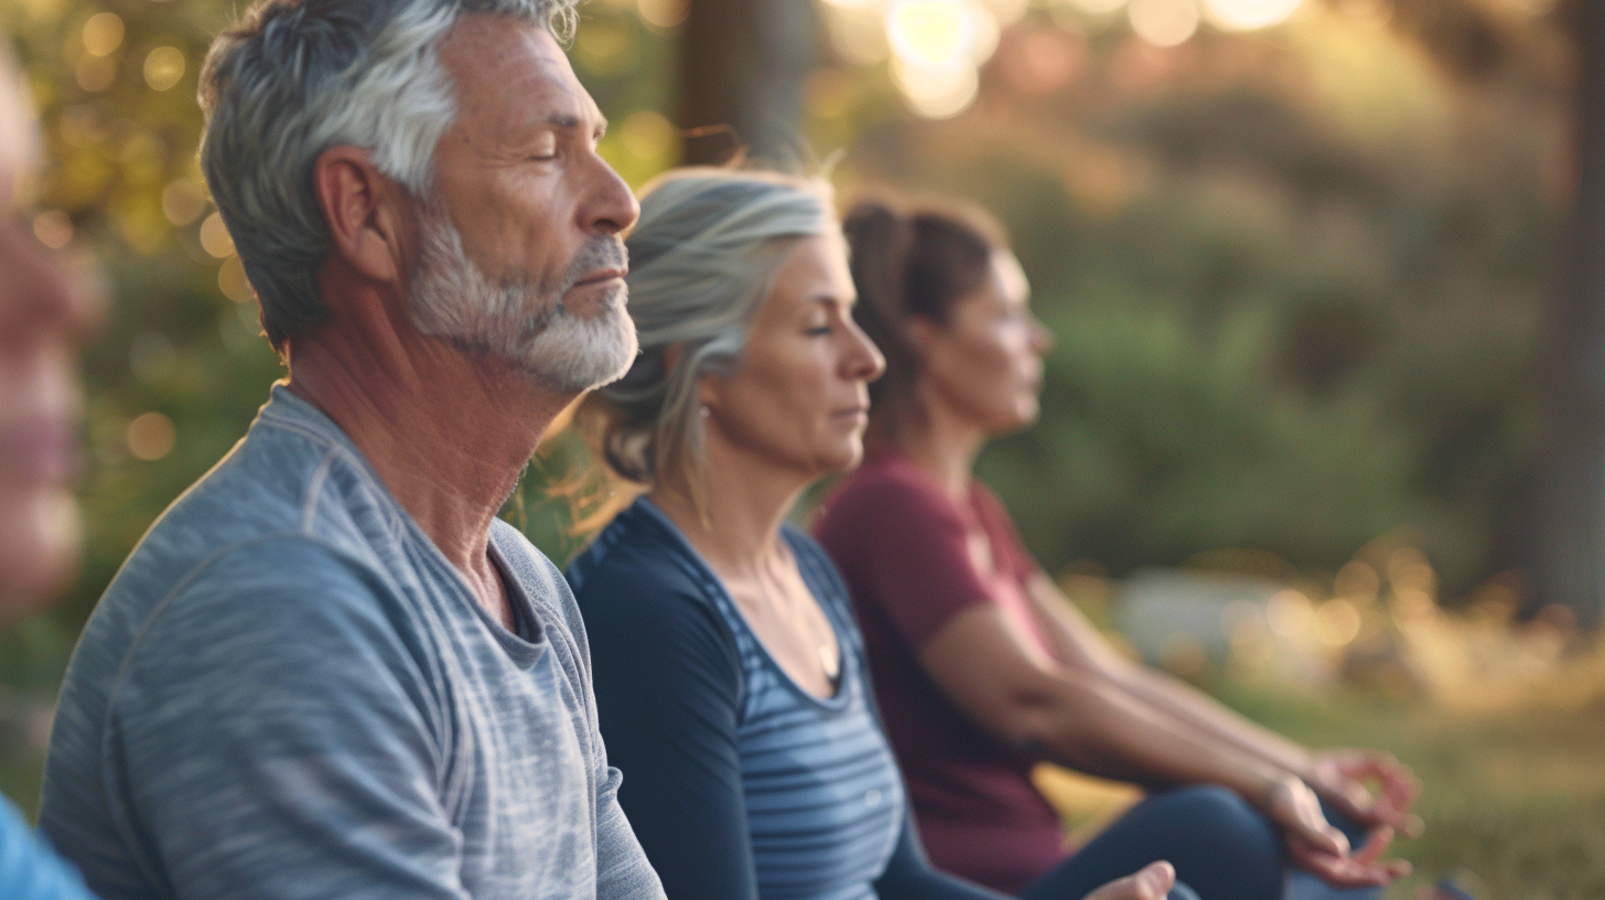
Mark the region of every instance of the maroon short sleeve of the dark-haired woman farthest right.
[[969, 556], [965, 519], [934, 484], [881, 469], [851, 477], [815, 537], [860, 612], [921, 649], [960, 612], [992, 601]]

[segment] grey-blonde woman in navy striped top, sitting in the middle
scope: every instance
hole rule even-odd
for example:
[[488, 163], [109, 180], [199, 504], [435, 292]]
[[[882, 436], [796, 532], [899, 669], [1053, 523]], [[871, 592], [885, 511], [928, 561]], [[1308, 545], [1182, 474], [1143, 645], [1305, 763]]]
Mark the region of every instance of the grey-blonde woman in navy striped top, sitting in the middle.
[[[676, 900], [1002, 900], [926, 861], [841, 579], [783, 526], [859, 461], [881, 371], [828, 188], [676, 170], [629, 251], [644, 352], [581, 421], [648, 490], [568, 575], [647, 858]], [[1194, 897], [1157, 855], [1077, 869], [1030, 897]]]

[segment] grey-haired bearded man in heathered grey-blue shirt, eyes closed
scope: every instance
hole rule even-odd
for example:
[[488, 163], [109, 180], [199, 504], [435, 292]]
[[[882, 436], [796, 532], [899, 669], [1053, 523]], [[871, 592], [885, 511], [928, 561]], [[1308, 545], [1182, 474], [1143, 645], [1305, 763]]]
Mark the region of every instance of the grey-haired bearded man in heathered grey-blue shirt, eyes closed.
[[562, 574], [496, 519], [636, 355], [562, 0], [266, 0], [201, 166], [289, 366], [74, 651], [42, 831], [104, 898], [661, 900]]

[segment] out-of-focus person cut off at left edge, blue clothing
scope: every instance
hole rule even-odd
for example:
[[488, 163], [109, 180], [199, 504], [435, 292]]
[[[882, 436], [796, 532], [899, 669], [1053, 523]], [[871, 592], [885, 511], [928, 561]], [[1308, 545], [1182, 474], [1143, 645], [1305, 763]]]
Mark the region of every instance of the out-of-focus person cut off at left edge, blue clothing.
[[[59, 595], [79, 550], [72, 476], [87, 294], [26, 225], [37, 130], [0, 32], [0, 627]], [[72, 866], [0, 797], [0, 897], [90, 900]]]

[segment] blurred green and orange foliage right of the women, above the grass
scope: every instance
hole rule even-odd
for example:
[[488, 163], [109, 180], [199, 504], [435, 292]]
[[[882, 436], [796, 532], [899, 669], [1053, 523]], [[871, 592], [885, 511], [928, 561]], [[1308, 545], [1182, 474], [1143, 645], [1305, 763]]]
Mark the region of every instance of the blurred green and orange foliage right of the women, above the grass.
[[[966, 196], [1013, 233], [1058, 346], [1042, 421], [981, 468], [1050, 571], [1242, 546], [1329, 574], [1385, 532], [1451, 596], [1509, 564], [1568, 45], [1512, 19], [1523, 64], [1467, 82], [1377, 10], [1172, 50], [1032, 13], [944, 122], [889, 114], [884, 79], [822, 88], [852, 122], [817, 129], [851, 135], [838, 180]], [[1021, 63], [1043, 42], [1056, 66]]]

